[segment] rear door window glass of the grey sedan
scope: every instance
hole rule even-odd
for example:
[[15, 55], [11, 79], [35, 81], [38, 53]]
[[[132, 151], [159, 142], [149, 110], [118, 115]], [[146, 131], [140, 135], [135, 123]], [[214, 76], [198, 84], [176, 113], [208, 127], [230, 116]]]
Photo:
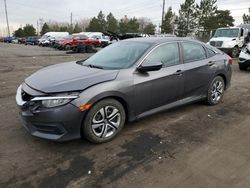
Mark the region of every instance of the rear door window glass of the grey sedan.
[[185, 62], [198, 61], [206, 58], [204, 48], [195, 43], [182, 43]]

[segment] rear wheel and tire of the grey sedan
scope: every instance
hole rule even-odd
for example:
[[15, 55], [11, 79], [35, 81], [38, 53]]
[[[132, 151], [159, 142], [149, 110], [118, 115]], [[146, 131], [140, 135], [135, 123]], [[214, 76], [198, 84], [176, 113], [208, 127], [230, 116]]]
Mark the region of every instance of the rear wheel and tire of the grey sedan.
[[216, 105], [221, 102], [225, 91], [225, 82], [221, 76], [216, 76], [211, 82], [207, 92], [207, 103]]

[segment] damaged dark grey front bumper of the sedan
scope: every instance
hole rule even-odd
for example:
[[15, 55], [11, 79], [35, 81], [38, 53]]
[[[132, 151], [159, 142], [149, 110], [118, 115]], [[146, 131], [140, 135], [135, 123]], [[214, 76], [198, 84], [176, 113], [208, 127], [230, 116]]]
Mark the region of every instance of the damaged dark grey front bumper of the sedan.
[[84, 113], [68, 103], [54, 108], [39, 108], [22, 100], [20, 88], [16, 101], [25, 129], [33, 136], [54, 141], [67, 141], [81, 137]]

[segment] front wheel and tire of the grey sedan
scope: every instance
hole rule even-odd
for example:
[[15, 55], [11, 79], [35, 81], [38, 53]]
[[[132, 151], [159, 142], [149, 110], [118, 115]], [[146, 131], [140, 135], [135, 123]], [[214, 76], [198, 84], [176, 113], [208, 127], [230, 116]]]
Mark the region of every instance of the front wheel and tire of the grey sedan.
[[83, 122], [83, 134], [93, 143], [108, 142], [122, 130], [125, 120], [122, 104], [115, 99], [104, 99], [89, 110]]

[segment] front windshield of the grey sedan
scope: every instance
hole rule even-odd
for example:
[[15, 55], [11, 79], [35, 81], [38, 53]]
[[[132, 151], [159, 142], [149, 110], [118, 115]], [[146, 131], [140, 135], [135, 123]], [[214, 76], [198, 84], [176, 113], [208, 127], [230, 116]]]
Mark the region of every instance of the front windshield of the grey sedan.
[[124, 69], [133, 65], [150, 47], [149, 43], [117, 42], [99, 51], [83, 65], [103, 69]]

